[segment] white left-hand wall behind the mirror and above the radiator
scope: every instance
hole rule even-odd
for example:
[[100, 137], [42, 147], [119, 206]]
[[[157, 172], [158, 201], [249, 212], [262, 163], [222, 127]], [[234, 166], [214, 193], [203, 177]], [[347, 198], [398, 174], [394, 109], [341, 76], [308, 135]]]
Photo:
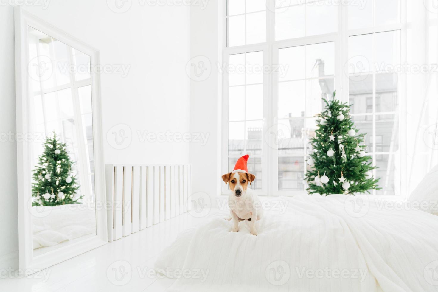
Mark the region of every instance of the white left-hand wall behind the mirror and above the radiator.
[[[109, 1], [110, 2], [110, 1]], [[6, 2], [5, 2], [6, 3]], [[132, 1], [115, 13], [107, 1], [52, 0], [47, 9], [25, 7], [99, 49], [102, 64], [130, 65], [126, 77], [102, 74], [105, 163], [187, 163], [189, 143], [141, 141], [137, 131], [189, 132], [190, 7]], [[129, 2], [127, 2], [129, 3]], [[141, 5], [145, 3], [145, 5]], [[14, 10], [0, 6], [0, 133], [15, 132]], [[106, 134], [126, 124], [131, 144], [115, 149]], [[115, 127], [114, 127], [115, 126]], [[114, 128], [113, 128], [114, 127]], [[120, 139], [120, 137], [119, 137]], [[128, 140], [126, 140], [128, 141]], [[0, 269], [18, 267], [16, 144], [0, 142]]]

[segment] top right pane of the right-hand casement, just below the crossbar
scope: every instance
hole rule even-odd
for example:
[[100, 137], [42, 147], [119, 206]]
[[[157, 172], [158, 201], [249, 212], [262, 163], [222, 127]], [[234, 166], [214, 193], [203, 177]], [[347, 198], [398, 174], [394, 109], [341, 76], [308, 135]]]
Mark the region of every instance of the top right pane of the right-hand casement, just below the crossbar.
[[[376, 33], [375, 70], [400, 64], [400, 31]], [[391, 69], [392, 67], [388, 67]]]

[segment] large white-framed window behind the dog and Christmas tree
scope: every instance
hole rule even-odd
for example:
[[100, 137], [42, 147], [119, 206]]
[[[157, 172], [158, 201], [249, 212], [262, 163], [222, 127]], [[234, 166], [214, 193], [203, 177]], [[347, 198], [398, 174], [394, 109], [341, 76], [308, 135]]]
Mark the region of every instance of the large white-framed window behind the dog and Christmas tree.
[[373, 194], [402, 194], [399, 1], [226, 1], [223, 170], [249, 152], [260, 194], [304, 193], [314, 115], [336, 90], [379, 167]]

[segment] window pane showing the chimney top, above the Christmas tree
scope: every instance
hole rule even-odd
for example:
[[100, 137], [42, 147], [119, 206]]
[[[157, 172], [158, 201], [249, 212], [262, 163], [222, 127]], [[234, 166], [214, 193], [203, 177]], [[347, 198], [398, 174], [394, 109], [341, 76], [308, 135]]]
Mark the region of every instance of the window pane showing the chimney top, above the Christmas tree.
[[306, 46], [306, 77], [335, 74], [335, 42]]

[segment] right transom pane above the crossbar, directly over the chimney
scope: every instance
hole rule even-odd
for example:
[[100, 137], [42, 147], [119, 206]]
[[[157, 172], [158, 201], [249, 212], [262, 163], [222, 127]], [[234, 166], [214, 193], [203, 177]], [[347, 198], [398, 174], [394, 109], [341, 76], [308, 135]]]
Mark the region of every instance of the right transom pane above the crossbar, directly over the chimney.
[[327, 1], [315, 1], [306, 5], [306, 35], [338, 31], [338, 5]]

